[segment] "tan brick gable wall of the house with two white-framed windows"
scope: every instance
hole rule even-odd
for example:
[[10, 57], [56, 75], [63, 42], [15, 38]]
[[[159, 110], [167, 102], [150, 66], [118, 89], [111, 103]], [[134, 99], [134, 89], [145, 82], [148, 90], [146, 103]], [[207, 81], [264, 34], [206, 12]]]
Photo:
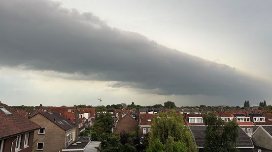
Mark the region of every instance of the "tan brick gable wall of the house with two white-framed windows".
[[35, 149], [38, 142], [44, 143], [43, 151], [40, 152], [59, 152], [64, 149], [66, 138], [65, 130], [43, 117], [41, 114], [36, 114], [30, 120], [40, 127], [45, 127], [45, 134], [38, 134], [38, 130], [34, 132]]

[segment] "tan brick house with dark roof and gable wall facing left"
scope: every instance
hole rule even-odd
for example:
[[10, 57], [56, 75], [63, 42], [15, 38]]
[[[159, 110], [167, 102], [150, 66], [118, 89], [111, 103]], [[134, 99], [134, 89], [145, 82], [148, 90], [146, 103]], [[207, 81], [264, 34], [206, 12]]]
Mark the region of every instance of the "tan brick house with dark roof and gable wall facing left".
[[36, 151], [59, 152], [77, 138], [77, 127], [58, 113], [39, 112], [30, 120], [42, 127], [34, 132]]

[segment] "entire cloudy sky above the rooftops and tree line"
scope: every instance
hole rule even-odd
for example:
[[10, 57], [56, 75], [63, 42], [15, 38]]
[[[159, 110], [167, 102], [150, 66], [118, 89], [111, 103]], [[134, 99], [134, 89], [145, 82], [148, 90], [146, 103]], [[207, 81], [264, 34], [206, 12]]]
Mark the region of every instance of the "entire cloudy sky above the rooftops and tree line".
[[271, 104], [271, 5], [0, 0], [0, 101]]

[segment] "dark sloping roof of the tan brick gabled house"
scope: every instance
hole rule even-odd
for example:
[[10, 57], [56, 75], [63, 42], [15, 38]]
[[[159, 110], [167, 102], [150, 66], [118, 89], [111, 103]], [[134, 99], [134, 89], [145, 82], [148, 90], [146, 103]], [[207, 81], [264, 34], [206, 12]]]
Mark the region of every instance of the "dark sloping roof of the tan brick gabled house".
[[39, 114], [43, 115], [44, 117], [46, 117], [51, 122], [53, 122], [57, 126], [64, 129], [65, 131], [68, 131], [68, 130], [70, 130], [72, 128], [75, 128], [75, 125], [73, 123], [71, 123], [68, 119], [66, 119], [65, 117], [59, 115], [58, 113], [55, 113], [55, 112], [52, 112], [52, 113], [51, 112], [41, 112]]

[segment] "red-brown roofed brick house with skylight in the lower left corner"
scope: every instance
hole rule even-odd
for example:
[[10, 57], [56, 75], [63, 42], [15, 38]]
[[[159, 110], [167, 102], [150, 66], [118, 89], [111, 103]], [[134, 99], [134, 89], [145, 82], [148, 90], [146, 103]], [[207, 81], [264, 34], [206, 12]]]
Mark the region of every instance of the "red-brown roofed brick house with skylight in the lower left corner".
[[0, 152], [31, 152], [40, 126], [0, 102]]

